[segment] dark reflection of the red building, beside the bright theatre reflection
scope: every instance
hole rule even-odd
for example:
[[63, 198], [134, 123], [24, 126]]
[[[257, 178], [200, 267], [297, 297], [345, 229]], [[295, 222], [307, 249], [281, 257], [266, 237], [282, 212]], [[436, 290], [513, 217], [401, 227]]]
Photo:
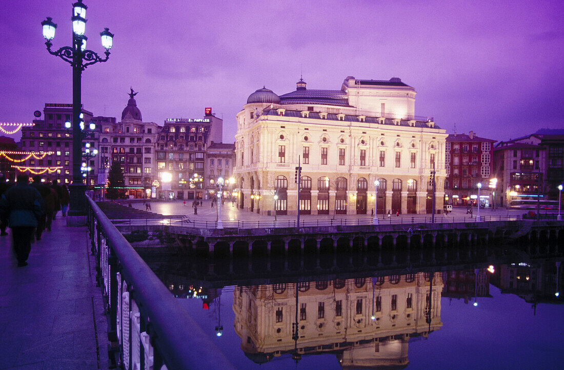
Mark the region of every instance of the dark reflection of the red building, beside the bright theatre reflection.
[[[476, 274], [478, 272], [478, 274]], [[490, 274], [486, 268], [476, 270], [452, 270], [442, 273], [443, 297], [464, 298], [491, 297]]]

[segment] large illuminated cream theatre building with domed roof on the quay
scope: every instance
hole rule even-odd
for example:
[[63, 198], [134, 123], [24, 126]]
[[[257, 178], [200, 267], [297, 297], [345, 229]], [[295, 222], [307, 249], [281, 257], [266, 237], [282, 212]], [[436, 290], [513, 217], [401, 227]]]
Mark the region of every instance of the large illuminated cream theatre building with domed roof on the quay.
[[299, 157], [301, 214], [370, 214], [376, 179], [377, 213], [430, 213], [433, 164], [442, 209], [447, 135], [432, 118], [414, 115], [415, 95], [399, 78], [354, 77], [340, 90], [307, 90], [300, 79], [288, 94], [253, 92], [237, 114], [240, 208], [296, 214]]

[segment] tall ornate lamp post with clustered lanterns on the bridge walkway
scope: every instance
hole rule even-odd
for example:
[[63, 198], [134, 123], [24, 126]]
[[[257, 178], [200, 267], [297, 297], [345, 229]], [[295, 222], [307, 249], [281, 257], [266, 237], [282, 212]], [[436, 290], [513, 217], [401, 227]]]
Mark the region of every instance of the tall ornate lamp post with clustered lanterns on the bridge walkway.
[[[53, 45], [51, 40], [55, 38], [55, 29], [57, 25], [53, 23], [51, 17], [41, 22], [43, 29], [43, 37], [46, 39], [45, 45], [49, 54], [58, 56], [67, 61], [72, 66], [73, 74], [73, 145], [72, 145], [72, 161], [73, 161], [73, 182], [69, 185], [69, 216], [84, 216], [86, 199], [84, 195], [85, 186], [82, 183], [82, 175], [80, 171], [81, 154], [82, 154], [82, 138], [80, 127], [81, 115], [81, 76], [82, 71], [89, 65], [107, 61], [109, 58], [109, 50], [112, 49], [113, 34], [108, 28], [104, 28], [100, 32], [102, 38], [102, 46], [105, 49], [105, 58], [100, 58], [96, 52], [86, 50], [86, 5], [82, 0], [78, 0], [73, 4], [72, 10], [72, 28], [73, 28], [73, 45], [63, 46], [59, 50], [52, 51]], [[76, 220], [77, 224], [80, 223]]]

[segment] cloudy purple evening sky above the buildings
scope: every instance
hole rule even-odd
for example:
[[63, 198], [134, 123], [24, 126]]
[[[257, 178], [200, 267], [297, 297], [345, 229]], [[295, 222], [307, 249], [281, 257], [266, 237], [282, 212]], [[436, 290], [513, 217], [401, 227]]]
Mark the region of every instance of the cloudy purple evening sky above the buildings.
[[[0, 122], [30, 122], [49, 103], [72, 103], [70, 65], [45, 50], [41, 21], [70, 45], [71, 0], [2, 1]], [[121, 117], [129, 87], [144, 121], [235, 114], [264, 85], [340, 89], [346, 76], [415, 87], [416, 114], [453, 133], [509, 139], [561, 128], [562, 1], [149, 1], [85, 0], [88, 49], [114, 37], [110, 60], [82, 75], [82, 103]], [[14, 135], [16, 139], [19, 134]]]

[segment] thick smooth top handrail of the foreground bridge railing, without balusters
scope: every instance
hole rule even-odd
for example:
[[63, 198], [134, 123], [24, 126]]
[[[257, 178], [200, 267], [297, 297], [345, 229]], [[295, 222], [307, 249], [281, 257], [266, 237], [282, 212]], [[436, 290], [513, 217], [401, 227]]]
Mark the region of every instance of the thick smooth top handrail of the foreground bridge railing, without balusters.
[[[155, 354], [155, 362], [160, 357], [166, 364], [166, 368], [169, 369], [209, 369], [211, 360], [214, 368], [234, 368], [98, 205], [89, 197], [86, 199], [90, 203], [92, 217], [89, 222], [91, 237], [94, 239], [97, 236], [98, 244], [102, 244], [100, 237], [105, 237], [105, 244], [110, 248], [110, 255], [107, 256], [108, 262], [100, 261], [100, 257], [97, 261], [100, 264], [109, 263], [111, 271], [111, 259], [113, 256], [117, 258], [116, 266], [120, 267], [122, 280], [126, 281], [128, 287], [133, 287], [130, 292], [132, 299], [135, 299], [139, 311], [145, 316], [147, 332], [149, 335], [152, 334], [151, 344], [155, 351], [158, 350], [158, 354]], [[92, 242], [94, 244], [94, 240]], [[98, 245], [98, 252], [100, 252], [100, 245]], [[103, 268], [108, 267], [100, 267], [100, 269]], [[117, 280], [117, 276], [114, 275], [116, 274], [109, 274], [109, 279]], [[115, 284], [116, 281], [112, 283]], [[104, 282], [105, 284], [108, 282]], [[113, 292], [114, 289], [110, 290]], [[117, 300], [121, 300], [122, 297], [118, 298], [117, 292], [112, 294], [115, 294], [116, 297], [109, 297], [109, 305], [117, 305]], [[121, 318], [121, 312], [117, 312], [116, 307], [110, 307], [108, 311], [116, 315], [116, 317], [108, 318], [110, 325], [115, 328], [116, 321]], [[202, 358], [206, 361], [202, 361]], [[160, 364], [155, 363], [155, 365], [158, 365], [155, 368], [161, 368]]]

